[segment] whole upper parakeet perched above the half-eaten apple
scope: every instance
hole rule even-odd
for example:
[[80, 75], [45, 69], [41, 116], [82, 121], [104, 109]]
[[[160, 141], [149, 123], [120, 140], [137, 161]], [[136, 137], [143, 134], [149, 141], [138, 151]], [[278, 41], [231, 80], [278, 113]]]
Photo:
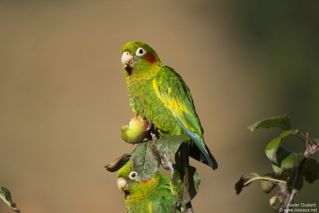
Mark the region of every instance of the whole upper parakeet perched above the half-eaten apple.
[[190, 156], [217, 169], [217, 162], [204, 143], [204, 131], [192, 95], [182, 77], [164, 66], [156, 52], [143, 42], [125, 44], [121, 54], [133, 112], [139, 109], [142, 118], [152, 121], [162, 135], [186, 132], [199, 150], [190, 150]]

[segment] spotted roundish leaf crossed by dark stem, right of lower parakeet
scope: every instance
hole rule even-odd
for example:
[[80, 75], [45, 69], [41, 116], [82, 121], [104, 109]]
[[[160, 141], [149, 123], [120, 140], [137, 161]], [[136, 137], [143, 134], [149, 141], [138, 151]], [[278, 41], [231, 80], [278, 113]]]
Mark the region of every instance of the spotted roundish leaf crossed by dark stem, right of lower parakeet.
[[182, 204], [186, 204], [191, 201], [198, 193], [200, 177], [195, 167], [189, 166], [189, 193], [185, 191], [184, 181], [186, 181], [186, 177], [183, 172], [178, 169], [175, 170], [170, 182], [171, 191], [176, 200]]

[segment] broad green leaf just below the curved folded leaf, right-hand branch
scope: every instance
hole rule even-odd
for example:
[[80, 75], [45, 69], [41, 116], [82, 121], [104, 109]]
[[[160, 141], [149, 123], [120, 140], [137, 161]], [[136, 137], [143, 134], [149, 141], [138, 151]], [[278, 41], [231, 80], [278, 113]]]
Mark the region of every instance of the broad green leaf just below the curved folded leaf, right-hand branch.
[[280, 172], [297, 166], [303, 159], [302, 154], [297, 154], [288, 149], [279, 147], [277, 150], [278, 164], [272, 163], [272, 169], [276, 175]]

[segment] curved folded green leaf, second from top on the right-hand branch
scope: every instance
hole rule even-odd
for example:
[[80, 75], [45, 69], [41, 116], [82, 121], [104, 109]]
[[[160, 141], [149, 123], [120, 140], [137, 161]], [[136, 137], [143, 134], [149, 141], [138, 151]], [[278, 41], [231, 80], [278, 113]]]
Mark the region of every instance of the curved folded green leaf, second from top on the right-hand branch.
[[286, 138], [288, 135], [296, 134], [296, 133], [298, 133], [298, 129], [297, 130], [286, 130], [285, 132], [281, 133], [278, 138], [275, 138], [274, 140], [270, 141], [265, 148], [265, 153], [266, 153], [267, 157], [272, 162], [278, 164], [276, 152], [277, 152], [278, 147], [280, 147], [280, 145], [281, 145], [281, 141], [284, 138]]

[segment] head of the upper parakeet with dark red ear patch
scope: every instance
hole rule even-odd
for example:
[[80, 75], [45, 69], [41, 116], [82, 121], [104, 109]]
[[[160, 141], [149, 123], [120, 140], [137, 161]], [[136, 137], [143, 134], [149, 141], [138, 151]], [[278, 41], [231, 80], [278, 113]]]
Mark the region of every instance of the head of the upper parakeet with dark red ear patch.
[[129, 42], [122, 47], [122, 65], [125, 74], [147, 77], [162, 63], [156, 52], [144, 42]]

